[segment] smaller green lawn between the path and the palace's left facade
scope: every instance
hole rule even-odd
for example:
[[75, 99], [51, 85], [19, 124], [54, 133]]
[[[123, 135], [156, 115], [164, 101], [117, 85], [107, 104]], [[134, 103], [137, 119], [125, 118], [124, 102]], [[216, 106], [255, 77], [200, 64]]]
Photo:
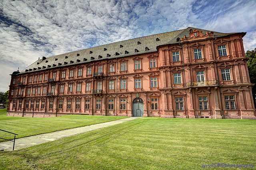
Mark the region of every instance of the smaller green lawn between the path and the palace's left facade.
[[[18, 134], [16, 138], [127, 118], [123, 116], [89, 115], [65, 115], [60, 117], [36, 118], [10, 117], [6, 116], [6, 114], [6, 109], [0, 109], [0, 129]], [[0, 131], [0, 137], [13, 139], [14, 135]], [[5, 140], [0, 139], [0, 141]]]

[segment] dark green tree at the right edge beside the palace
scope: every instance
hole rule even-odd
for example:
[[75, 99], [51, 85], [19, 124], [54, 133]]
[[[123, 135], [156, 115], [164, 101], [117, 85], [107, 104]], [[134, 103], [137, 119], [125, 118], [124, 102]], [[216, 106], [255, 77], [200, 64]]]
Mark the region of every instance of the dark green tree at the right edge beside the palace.
[[[246, 57], [249, 57], [247, 66], [249, 70], [249, 76], [252, 84], [256, 84], [256, 48], [252, 51], [246, 51]], [[252, 95], [254, 96], [254, 100], [256, 97], [256, 86], [252, 87]], [[255, 101], [254, 101], [255, 102]]]

